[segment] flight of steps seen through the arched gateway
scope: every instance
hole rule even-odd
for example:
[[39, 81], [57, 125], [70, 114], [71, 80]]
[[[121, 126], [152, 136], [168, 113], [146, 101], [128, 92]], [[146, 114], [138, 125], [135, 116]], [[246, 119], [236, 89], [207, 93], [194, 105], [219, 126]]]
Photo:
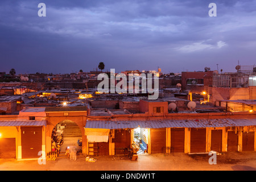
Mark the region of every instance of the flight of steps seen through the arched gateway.
[[65, 126], [65, 129], [62, 135], [63, 138], [64, 137], [82, 137], [80, 127], [77, 126], [75, 122], [63, 121], [63, 123], [61, 123], [61, 126]]

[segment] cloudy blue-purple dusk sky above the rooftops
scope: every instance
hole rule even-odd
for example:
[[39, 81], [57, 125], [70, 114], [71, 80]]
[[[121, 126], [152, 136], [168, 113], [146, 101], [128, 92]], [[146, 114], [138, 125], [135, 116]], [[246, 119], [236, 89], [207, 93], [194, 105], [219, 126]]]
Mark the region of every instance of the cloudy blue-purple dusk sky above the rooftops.
[[235, 72], [256, 63], [256, 1], [1, 0], [0, 40], [6, 73]]

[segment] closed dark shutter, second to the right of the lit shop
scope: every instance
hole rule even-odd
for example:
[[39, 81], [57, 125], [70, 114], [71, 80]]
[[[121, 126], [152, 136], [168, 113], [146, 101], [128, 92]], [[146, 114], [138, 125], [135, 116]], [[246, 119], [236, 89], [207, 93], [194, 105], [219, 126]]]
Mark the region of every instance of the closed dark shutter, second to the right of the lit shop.
[[184, 152], [184, 129], [171, 129], [171, 152]]

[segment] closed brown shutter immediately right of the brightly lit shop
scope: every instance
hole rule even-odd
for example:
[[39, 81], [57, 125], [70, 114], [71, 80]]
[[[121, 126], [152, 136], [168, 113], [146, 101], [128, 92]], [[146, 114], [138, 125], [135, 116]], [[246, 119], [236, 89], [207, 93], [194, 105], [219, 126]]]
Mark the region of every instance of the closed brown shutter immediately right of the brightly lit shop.
[[150, 129], [151, 154], [162, 153], [166, 147], [166, 129]]

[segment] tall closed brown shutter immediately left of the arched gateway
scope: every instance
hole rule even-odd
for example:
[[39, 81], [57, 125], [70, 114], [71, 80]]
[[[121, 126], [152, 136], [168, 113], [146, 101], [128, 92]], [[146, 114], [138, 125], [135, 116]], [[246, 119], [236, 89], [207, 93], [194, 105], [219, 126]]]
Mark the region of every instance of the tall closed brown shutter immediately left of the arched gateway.
[[22, 158], [38, 158], [42, 151], [42, 127], [20, 127], [22, 131]]

